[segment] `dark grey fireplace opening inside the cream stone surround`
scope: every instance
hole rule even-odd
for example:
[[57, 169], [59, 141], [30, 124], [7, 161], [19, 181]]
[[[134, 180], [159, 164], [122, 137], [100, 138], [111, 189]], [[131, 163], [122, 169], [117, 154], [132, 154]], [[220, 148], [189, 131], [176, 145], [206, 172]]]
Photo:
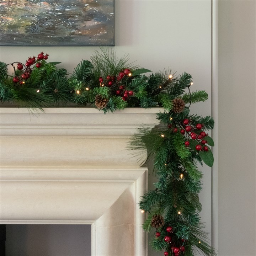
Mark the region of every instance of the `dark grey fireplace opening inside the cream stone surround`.
[[91, 225], [6, 225], [6, 256], [91, 256]]

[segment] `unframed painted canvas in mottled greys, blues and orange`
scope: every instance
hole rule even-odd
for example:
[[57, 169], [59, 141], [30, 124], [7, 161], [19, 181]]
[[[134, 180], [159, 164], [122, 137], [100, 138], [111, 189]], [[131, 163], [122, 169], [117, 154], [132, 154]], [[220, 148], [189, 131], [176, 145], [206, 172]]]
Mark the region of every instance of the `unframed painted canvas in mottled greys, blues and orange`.
[[114, 0], [0, 0], [1, 46], [113, 46]]

